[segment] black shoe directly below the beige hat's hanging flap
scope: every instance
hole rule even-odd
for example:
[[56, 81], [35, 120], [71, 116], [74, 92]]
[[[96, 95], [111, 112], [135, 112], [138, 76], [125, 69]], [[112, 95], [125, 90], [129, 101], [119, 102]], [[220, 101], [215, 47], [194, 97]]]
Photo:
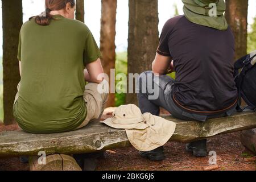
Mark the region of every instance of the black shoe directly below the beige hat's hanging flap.
[[164, 156], [164, 148], [158, 147], [155, 150], [142, 152], [139, 151], [139, 155], [141, 155], [143, 158], [152, 160], [152, 161], [158, 161], [158, 160], [164, 160], [166, 156]]

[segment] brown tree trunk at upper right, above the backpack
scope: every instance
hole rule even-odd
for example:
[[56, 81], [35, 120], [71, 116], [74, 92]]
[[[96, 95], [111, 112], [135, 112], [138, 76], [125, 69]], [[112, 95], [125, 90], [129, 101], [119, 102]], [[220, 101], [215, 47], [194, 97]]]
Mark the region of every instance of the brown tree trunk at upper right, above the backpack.
[[248, 0], [226, 0], [226, 19], [236, 40], [235, 60], [247, 53]]

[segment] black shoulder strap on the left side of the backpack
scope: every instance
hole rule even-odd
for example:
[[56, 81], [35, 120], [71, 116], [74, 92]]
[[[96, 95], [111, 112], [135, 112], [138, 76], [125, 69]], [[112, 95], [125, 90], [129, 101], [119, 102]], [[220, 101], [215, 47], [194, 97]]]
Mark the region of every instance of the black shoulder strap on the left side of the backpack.
[[[234, 64], [234, 78], [236, 80], [237, 89], [238, 89], [238, 104], [237, 104], [237, 111], [242, 112], [245, 108], [241, 107], [242, 104], [242, 94], [241, 94], [241, 86], [243, 82], [243, 78], [245, 77], [246, 72], [253, 67], [251, 61], [254, 59], [256, 55], [250, 57], [249, 55], [241, 57], [241, 59], [237, 60]], [[239, 69], [242, 68], [241, 73], [239, 74]]]

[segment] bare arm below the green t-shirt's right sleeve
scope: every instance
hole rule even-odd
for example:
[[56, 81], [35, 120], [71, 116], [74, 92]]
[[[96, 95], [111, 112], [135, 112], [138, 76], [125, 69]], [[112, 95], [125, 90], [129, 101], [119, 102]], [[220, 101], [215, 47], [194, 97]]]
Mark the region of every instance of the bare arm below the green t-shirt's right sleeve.
[[101, 60], [98, 58], [96, 61], [89, 63], [86, 65], [86, 69], [84, 69], [84, 77], [88, 82], [94, 82], [100, 84], [102, 80], [98, 80], [98, 76], [104, 73]]

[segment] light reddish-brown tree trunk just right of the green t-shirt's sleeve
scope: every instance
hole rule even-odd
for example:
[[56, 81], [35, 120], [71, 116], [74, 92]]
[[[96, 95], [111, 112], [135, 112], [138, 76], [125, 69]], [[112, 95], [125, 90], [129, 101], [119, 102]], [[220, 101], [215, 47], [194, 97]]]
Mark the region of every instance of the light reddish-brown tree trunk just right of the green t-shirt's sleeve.
[[[115, 22], [117, 14], [117, 0], [101, 1], [101, 45], [102, 66], [109, 76], [110, 69], [115, 68]], [[115, 105], [115, 94], [110, 93], [107, 107]]]

